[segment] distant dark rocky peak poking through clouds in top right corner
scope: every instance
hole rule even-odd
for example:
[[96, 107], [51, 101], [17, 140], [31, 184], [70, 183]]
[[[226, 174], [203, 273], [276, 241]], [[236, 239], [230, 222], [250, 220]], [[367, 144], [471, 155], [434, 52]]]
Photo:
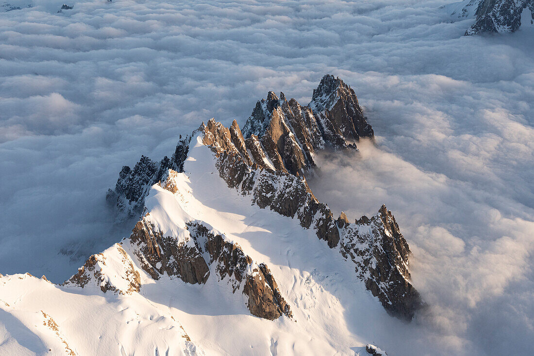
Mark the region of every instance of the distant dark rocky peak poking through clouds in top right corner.
[[521, 13], [527, 7], [531, 14], [530, 23], [534, 21], [534, 0], [479, 0], [478, 4], [468, 3], [462, 11], [469, 13], [469, 8], [475, 6], [476, 22], [469, 27], [465, 35], [514, 32], [521, 26]]

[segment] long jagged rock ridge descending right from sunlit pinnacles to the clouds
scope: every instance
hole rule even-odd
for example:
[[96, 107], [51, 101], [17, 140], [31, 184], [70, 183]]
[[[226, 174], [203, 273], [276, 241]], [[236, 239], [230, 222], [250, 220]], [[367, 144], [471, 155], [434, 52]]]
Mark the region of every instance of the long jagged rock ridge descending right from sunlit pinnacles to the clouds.
[[217, 157], [216, 167], [227, 185], [250, 196], [260, 208], [298, 219], [303, 228], [315, 230], [328, 247], [339, 247], [343, 257], [350, 257], [356, 264], [358, 278], [384, 308], [396, 317], [411, 320], [421, 299], [410, 283], [410, 248], [391, 211], [382, 205], [371, 219], [364, 216], [350, 223], [344, 213], [335, 219], [327, 205], [313, 195], [304, 177], [262, 168], [246, 151], [240, 151], [242, 135], [237, 122], [232, 128], [234, 135], [211, 119], [199, 129], [203, 131], [203, 143]]

